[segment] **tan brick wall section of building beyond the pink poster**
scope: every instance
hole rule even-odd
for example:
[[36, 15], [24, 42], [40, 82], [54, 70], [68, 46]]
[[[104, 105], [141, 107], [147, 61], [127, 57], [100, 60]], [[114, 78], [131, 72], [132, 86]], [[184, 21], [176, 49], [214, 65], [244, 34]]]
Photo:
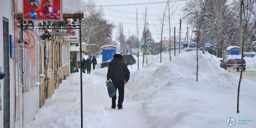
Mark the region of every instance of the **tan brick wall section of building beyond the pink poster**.
[[[67, 46], [66, 48], [63, 48], [62, 45]], [[64, 80], [64, 75], [68, 76], [69, 74], [69, 65], [68, 61], [67, 63], [63, 62], [63, 53], [67, 54], [65, 57], [68, 60], [69, 58], [69, 43], [66, 41], [63, 41], [61, 37], [57, 37], [55, 41], [50, 42], [49, 45], [46, 46], [46, 57], [48, 57], [48, 69], [44, 69], [44, 46], [41, 46], [40, 48], [40, 74], [44, 74], [46, 78], [49, 78], [48, 81], [48, 93], [47, 98], [50, 99], [52, 95], [54, 94], [54, 90], [59, 88], [59, 82], [56, 82], [55, 84], [55, 77], [54, 73], [57, 73], [59, 75], [59, 79]], [[57, 62], [58, 64], [55, 64], [54, 62]], [[61, 64], [59, 64], [61, 63]], [[55, 72], [55, 70], [57, 70]], [[57, 77], [58, 79], [58, 77]], [[40, 76], [40, 108], [43, 107], [45, 103], [45, 84], [47, 81], [45, 81], [45, 77]]]

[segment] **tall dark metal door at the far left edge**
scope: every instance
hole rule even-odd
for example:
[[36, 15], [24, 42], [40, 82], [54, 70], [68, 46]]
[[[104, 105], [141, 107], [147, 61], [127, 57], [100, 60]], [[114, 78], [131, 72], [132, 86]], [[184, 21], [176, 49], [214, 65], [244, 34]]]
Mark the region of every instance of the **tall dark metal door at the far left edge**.
[[9, 73], [9, 25], [8, 19], [3, 18], [4, 38], [4, 128], [10, 128], [10, 73]]

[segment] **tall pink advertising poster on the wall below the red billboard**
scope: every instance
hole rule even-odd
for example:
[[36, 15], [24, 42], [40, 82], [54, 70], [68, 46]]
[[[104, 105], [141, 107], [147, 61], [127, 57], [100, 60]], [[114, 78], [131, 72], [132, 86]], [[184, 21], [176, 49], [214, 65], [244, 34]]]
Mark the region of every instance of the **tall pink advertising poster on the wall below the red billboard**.
[[27, 30], [24, 40], [29, 40], [28, 48], [24, 48], [24, 93], [36, 87], [36, 47], [33, 32]]

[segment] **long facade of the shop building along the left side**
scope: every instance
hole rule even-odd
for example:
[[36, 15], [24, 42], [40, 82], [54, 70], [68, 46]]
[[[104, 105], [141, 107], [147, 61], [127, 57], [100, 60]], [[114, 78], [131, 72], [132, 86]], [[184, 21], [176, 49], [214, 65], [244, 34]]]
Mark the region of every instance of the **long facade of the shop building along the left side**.
[[[21, 29], [21, 24], [29, 24], [22, 22], [22, 9], [18, 10], [21, 0], [1, 3], [0, 75], [5, 76], [0, 80], [0, 128], [24, 128], [69, 75], [67, 40], [72, 36], [53, 36], [43, 44], [38, 36], [40, 31], [34, 29], [36, 24]], [[77, 31], [73, 36], [78, 35]]]

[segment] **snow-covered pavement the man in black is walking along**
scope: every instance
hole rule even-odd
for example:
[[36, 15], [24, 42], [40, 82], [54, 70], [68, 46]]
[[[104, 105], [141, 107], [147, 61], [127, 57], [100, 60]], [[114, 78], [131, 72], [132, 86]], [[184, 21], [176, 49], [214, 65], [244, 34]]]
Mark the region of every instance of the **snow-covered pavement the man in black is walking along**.
[[[84, 128], [150, 127], [140, 116], [142, 101], [124, 99], [123, 110], [111, 108], [106, 73], [104, 68], [83, 74]], [[26, 128], [80, 128], [80, 73], [71, 74], [55, 92]]]

